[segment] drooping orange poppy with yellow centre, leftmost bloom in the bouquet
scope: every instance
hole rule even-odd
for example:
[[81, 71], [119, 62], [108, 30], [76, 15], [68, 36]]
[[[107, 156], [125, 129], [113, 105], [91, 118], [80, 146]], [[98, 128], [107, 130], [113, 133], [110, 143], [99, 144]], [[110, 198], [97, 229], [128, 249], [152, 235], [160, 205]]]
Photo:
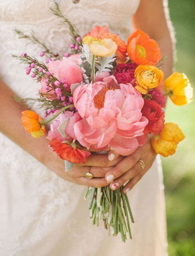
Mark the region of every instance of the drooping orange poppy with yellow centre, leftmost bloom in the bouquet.
[[45, 134], [45, 125], [40, 126], [43, 119], [34, 111], [23, 111], [21, 121], [26, 132], [29, 132], [32, 137], [39, 138]]

